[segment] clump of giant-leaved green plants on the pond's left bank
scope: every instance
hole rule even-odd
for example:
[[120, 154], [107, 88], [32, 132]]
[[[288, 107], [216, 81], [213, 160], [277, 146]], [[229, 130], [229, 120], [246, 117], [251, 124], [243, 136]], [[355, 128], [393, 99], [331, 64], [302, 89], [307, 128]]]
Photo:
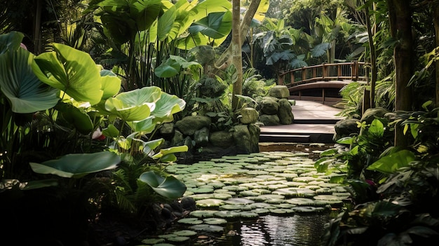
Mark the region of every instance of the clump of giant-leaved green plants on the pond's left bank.
[[[174, 153], [187, 151], [187, 146], [163, 149], [164, 140], [150, 134], [173, 121], [184, 100], [157, 87], [119, 93], [120, 78], [87, 53], [53, 43], [53, 51], [35, 57], [20, 47], [22, 37], [18, 32], [0, 36], [0, 194], [8, 200], [5, 206], [20, 201], [15, 195], [46, 188], [60, 192], [53, 205], [62, 207], [59, 203], [72, 193], [81, 206], [99, 210], [119, 183], [108, 182], [111, 175], [104, 175], [104, 182], [95, 175], [118, 169], [121, 160], [140, 160], [136, 164], [144, 172], [135, 179], [149, 187], [149, 194], [181, 197], [182, 182], [143, 166], [157, 169], [159, 163], [175, 161]], [[123, 130], [126, 126], [130, 130]], [[142, 199], [151, 202], [154, 196]]]

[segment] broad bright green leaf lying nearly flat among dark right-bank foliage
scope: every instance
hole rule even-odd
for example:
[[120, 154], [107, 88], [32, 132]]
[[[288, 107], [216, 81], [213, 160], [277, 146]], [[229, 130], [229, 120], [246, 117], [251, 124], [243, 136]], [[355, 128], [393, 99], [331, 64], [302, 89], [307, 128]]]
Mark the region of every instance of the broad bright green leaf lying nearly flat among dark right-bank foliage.
[[389, 156], [379, 158], [379, 160], [367, 167], [367, 170], [378, 171], [390, 175], [400, 168], [407, 167], [414, 160], [416, 160], [416, 157], [412, 151], [402, 150], [396, 153], [391, 153]]

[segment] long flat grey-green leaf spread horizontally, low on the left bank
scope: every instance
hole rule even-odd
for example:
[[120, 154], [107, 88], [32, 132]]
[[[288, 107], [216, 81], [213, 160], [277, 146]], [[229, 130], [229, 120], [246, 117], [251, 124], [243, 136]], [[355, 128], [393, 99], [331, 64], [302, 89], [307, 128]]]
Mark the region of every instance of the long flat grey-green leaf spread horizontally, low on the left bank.
[[58, 175], [67, 178], [80, 178], [93, 172], [117, 167], [121, 158], [109, 151], [97, 153], [71, 153], [56, 160], [43, 163], [29, 163], [32, 170], [43, 175]]

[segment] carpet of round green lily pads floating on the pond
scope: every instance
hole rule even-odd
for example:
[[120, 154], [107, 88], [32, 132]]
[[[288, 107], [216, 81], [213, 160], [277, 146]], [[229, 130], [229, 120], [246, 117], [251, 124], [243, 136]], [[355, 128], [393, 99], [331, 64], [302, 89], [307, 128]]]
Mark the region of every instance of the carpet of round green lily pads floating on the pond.
[[326, 175], [317, 172], [313, 163], [309, 153], [273, 151], [170, 165], [168, 172], [187, 185], [184, 196], [194, 198], [197, 210], [177, 221], [189, 230], [142, 242], [159, 246], [186, 243], [205, 233], [227, 236], [227, 224], [257, 221], [262, 216], [329, 214], [350, 196], [342, 184], [330, 182], [344, 175], [339, 171], [344, 167]]

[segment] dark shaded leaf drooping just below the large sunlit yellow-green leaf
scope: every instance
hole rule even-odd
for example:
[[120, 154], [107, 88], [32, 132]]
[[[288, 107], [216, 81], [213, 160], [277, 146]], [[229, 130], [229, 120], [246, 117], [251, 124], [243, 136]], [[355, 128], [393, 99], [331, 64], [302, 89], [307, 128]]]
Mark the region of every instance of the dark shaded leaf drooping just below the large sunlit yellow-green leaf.
[[94, 130], [90, 116], [72, 104], [59, 103], [55, 106], [55, 109], [61, 112], [61, 116], [65, 121], [74, 125], [83, 135], [87, 135]]

